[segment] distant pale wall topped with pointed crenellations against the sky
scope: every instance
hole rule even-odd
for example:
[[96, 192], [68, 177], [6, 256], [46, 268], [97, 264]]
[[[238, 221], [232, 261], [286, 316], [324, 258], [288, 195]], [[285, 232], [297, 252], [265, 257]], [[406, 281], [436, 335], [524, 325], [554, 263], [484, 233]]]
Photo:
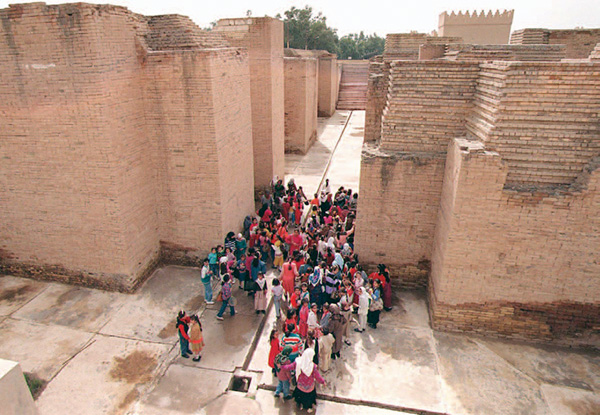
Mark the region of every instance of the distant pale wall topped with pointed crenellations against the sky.
[[438, 34], [461, 37], [465, 43], [504, 45], [510, 39], [513, 16], [514, 10], [443, 12], [439, 17]]

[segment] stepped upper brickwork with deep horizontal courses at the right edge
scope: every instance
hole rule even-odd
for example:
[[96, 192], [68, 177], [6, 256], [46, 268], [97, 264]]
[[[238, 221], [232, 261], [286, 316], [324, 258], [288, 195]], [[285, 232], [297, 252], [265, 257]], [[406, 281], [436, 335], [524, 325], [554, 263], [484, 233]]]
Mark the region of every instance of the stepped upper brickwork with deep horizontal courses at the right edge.
[[568, 185], [600, 154], [598, 64], [482, 65], [469, 132], [508, 163], [507, 186]]

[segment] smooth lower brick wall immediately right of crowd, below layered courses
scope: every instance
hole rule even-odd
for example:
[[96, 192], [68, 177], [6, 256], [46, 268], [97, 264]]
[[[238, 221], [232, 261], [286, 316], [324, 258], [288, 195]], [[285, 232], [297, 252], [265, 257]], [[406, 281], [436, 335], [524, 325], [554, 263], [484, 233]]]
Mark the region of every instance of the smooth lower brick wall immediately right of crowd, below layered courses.
[[360, 177], [355, 246], [361, 264], [385, 263], [404, 287], [425, 286], [443, 155], [383, 152], [365, 144]]

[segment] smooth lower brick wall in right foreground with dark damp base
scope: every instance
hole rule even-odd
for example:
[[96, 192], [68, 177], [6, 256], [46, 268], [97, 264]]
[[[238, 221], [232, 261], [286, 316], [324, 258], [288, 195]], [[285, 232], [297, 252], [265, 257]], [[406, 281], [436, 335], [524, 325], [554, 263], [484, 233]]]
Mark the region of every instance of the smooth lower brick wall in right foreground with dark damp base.
[[501, 155], [454, 140], [432, 260], [433, 326], [585, 343], [600, 324], [599, 166], [569, 190], [507, 190]]

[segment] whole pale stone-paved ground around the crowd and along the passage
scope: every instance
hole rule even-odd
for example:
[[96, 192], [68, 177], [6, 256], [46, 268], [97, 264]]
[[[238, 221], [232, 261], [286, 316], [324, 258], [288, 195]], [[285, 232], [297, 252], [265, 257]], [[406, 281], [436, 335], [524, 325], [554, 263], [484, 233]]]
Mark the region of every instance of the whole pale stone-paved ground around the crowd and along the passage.
[[[320, 120], [320, 142], [291, 156], [286, 173], [314, 192], [331, 159], [332, 188], [358, 188], [363, 117]], [[0, 357], [49, 381], [37, 400], [42, 415], [303, 413], [270, 391], [273, 311], [259, 330], [263, 317], [238, 291], [236, 316], [219, 322], [202, 292], [199, 270], [182, 267], [157, 270], [134, 295], [2, 276]], [[434, 332], [423, 293], [396, 292], [394, 304], [377, 330], [352, 332], [325, 374], [317, 413], [599, 413], [600, 353]], [[181, 308], [201, 314], [199, 363], [179, 357]], [[240, 368], [254, 377], [250, 397], [226, 391]]]

